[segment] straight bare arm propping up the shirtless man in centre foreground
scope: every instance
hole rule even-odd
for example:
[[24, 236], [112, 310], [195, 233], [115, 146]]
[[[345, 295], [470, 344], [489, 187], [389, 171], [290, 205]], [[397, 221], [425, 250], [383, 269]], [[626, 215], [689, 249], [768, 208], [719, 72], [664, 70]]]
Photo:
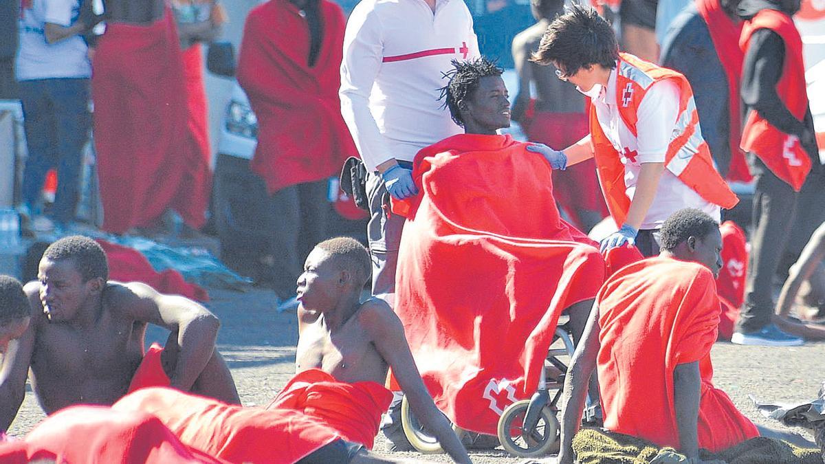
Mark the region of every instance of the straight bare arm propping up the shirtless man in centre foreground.
[[471, 462], [464, 445], [450, 427], [450, 421], [436, 408], [421, 380], [401, 320], [398, 320], [398, 316], [384, 301], [373, 301], [369, 308], [361, 310], [361, 326], [370, 334], [378, 353], [393, 369], [393, 375], [404, 395], [407, 395], [413, 413], [436, 436], [441, 447], [455, 462]]

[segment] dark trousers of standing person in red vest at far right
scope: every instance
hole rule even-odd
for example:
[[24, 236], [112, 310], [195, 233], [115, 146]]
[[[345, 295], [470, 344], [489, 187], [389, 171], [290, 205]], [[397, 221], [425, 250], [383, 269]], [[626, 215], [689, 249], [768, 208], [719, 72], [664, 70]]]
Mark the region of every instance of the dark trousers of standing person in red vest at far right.
[[738, 332], [753, 332], [771, 323], [774, 312], [773, 278], [785, 252], [794, 223], [799, 194], [777, 178], [753, 154], [748, 155], [756, 181], [753, 196], [753, 233], [745, 281], [745, 305]]

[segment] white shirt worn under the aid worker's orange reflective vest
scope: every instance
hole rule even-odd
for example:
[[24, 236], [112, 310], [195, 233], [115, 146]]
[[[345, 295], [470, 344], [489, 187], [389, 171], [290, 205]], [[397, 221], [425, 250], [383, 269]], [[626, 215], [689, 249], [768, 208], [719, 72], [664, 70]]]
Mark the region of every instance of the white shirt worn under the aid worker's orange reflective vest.
[[[616, 70], [610, 73], [607, 88], [599, 97], [592, 99], [596, 116], [607, 140], [620, 154], [625, 165], [625, 187], [627, 196], [633, 199], [636, 182], [642, 163], [664, 163], [667, 146], [679, 116], [679, 88], [671, 81], [653, 83], [639, 103], [637, 112], [637, 139], [625, 125], [616, 105]], [[667, 168], [659, 180], [656, 196], [644, 216], [640, 229], [659, 229], [668, 216], [682, 208], [696, 208], [705, 211], [714, 220], [719, 220], [719, 206], [706, 201], [685, 182], [681, 182]]]

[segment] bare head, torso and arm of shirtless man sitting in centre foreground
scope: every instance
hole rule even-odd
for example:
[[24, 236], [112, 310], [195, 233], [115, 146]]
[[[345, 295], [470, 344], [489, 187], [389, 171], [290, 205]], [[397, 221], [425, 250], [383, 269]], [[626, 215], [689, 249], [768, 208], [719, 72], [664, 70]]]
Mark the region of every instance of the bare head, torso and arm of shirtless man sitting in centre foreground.
[[298, 278], [296, 372], [321, 369], [341, 382], [383, 384], [392, 367], [421, 423], [455, 462], [470, 462], [424, 386], [398, 316], [380, 299], [360, 302], [370, 267], [355, 239], [329, 239], [309, 253]]

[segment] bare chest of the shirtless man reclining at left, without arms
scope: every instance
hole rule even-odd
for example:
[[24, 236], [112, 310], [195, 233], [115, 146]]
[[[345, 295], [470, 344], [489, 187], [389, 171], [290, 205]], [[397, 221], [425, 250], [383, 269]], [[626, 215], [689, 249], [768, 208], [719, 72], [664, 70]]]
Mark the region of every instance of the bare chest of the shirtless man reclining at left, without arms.
[[[39, 290], [39, 282], [26, 286], [33, 308], [42, 307]], [[109, 282], [97, 320], [85, 329], [52, 323], [42, 310], [33, 311], [31, 381], [47, 414], [78, 403], [111, 405], [125, 395], [143, 358], [146, 323], [120, 310], [123, 291], [125, 286]]]

